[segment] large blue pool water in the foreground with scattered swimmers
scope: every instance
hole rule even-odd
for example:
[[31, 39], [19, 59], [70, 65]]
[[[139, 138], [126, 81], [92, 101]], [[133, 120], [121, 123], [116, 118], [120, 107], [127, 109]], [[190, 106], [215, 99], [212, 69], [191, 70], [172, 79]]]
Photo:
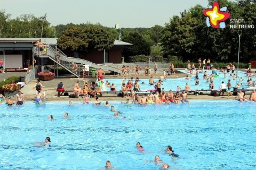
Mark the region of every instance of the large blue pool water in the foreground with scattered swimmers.
[[[1, 104], [0, 169], [100, 169], [106, 160], [118, 169], [159, 169], [145, 164], [156, 155], [179, 169], [256, 168], [255, 102], [111, 105], [126, 118], [82, 101]], [[63, 119], [65, 112], [71, 117]], [[50, 147], [35, 145], [45, 137], [51, 138]], [[137, 142], [145, 152], [135, 148]], [[164, 154], [167, 145], [180, 158]]]

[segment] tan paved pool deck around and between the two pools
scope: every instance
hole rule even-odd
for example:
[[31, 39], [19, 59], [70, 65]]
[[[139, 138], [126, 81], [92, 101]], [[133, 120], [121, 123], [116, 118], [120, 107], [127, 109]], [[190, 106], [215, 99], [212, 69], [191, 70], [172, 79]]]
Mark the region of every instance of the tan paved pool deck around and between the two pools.
[[[243, 71], [246, 71], [245, 69], [243, 69]], [[143, 78], [149, 78], [149, 77], [145, 77], [144, 75], [141, 75], [141, 73], [143, 74], [143, 72], [140, 72], [140, 75], [138, 76], [140, 79]], [[162, 72], [158, 72], [157, 76], [154, 78], [158, 78], [161, 76]], [[127, 78], [131, 78], [131, 77], [135, 77], [134, 73], [131, 74], [132, 76], [127, 77]], [[173, 74], [173, 75], [169, 75], [167, 78], [170, 79], [175, 79], [175, 78], [180, 78], [180, 77], [186, 77], [185, 73], [181, 73], [178, 72]], [[106, 75], [103, 80], [108, 80], [108, 79], [115, 79], [115, 78], [119, 78], [122, 79], [124, 77], [122, 77], [121, 75]], [[83, 83], [85, 80], [87, 81], [95, 81], [95, 77], [87, 77], [87, 78], [75, 78], [75, 77], [59, 77], [59, 78], [54, 78], [53, 80], [50, 81], [41, 81], [42, 85], [43, 85], [43, 93], [45, 91], [46, 94], [46, 100], [47, 101], [82, 101], [83, 99], [81, 97], [79, 98], [69, 98], [67, 96], [60, 96], [58, 97], [58, 92], [57, 90], [57, 84], [59, 82], [63, 82], [63, 85], [65, 86], [65, 90], [73, 90], [74, 89], [74, 84], [76, 83], [77, 80], [79, 80], [79, 87], [83, 88]], [[36, 94], [36, 90], [33, 89], [33, 87], [36, 84], [37, 79], [34, 79], [32, 81], [30, 81], [28, 84], [26, 84], [21, 91], [23, 92], [23, 95], [25, 97], [25, 102], [26, 101], [34, 101], [35, 100], [35, 94]], [[73, 94], [73, 92], [69, 92], [69, 94]], [[118, 92], [117, 92], [118, 94]], [[126, 100], [126, 98], [121, 98], [118, 97], [117, 94], [103, 94], [103, 97], [100, 97], [100, 100]], [[245, 98], [249, 98], [249, 92], [246, 93]], [[129, 97], [129, 99], [131, 100], [131, 98]], [[188, 94], [188, 99], [210, 99], [210, 100], [220, 100], [220, 99], [228, 99], [227, 94], [225, 94], [224, 96], [211, 96], [210, 93], [205, 93], [204, 95], [199, 95], [199, 96], [195, 96], [192, 93]], [[231, 98], [229, 98], [231, 100]], [[13, 97], [13, 100], [14, 97]], [[90, 99], [91, 101], [94, 101], [94, 99]]]

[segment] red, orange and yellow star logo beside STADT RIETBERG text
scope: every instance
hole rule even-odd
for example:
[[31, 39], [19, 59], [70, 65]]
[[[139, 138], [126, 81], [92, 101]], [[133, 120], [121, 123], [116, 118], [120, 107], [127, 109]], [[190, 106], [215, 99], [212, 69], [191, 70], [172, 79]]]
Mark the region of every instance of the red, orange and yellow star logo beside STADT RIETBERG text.
[[225, 22], [230, 14], [228, 12], [222, 12], [226, 11], [227, 7], [219, 7], [218, 2], [214, 2], [212, 6], [209, 6], [207, 10], [204, 10], [203, 14], [207, 16], [206, 18], [206, 24], [208, 27], [212, 25], [214, 28], [225, 28]]

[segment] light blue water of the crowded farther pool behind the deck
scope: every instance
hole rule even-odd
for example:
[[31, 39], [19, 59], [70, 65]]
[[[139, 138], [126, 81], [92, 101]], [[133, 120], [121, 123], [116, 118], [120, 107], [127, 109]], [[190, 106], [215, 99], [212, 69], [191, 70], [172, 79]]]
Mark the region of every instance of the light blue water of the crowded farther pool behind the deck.
[[[186, 73], [186, 71], [183, 71], [184, 73]], [[229, 74], [227, 73], [227, 77], [224, 78], [224, 74], [221, 73], [221, 72], [217, 72], [219, 77], [218, 78], [214, 78], [214, 89], [217, 89], [219, 90], [219, 87], [220, 87], [220, 84], [222, 81], [224, 81], [226, 84], [228, 82], [228, 80], [230, 79], [231, 81], [231, 85], [232, 87], [235, 87], [236, 86], [236, 80], [233, 80], [232, 77], [229, 77]], [[211, 74], [211, 71], [207, 71], [207, 74]], [[189, 74], [188, 74], [189, 75]], [[247, 85], [247, 80], [248, 78], [245, 77], [246, 74], [244, 72], [238, 72], [238, 76], [239, 78], [243, 78], [243, 86], [241, 86], [241, 89], [242, 88], [248, 88], [248, 85]], [[172, 75], [172, 77], [175, 77], [175, 74]], [[176, 79], [166, 79], [164, 80], [162, 83], [163, 83], [163, 86], [161, 86], [161, 88], [164, 88], [166, 91], [169, 91], [169, 90], [173, 90], [173, 91], [176, 91], [177, 90], [177, 86], [180, 86], [181, 89], [185, 89], [185, 86], [186, 86], [186, 83], [189, 84], [190, 86], [190, 89], [191, 90], [201, 90], [201, 89], [209, 89], [209, 82], [206, 82], [206, 80], [203, 79], [203, 73], [199, 73], [199, 85], [195, 85], [195, 75], [191, 75], [191, 78], [189, 80], [186, 80], [185, 77], [182, 77], [182, 78], [176, 78]], [[133, 77], [134, 78], [134, 77]], [[252, 78], [253, 81], [255, 81], [256, 79], [253, 77]], [[111, 83], [115, 83], [115, 86], [116, 86], [116, 90], [119, 91], [121, 90], [121, 84], [122, 84], [122, 81], [124, 79], [104, 79], [104, 81], [108, 80]], [[127, 79], [125, 81], [125, 83], [127, 83], [127, 81], [130, 80], [130, 79]], [[154, 81], [158, 81], [159, 78], [155, 78], [154, 77]], [[134, 79], [135, 81], [135, 79]], [[142, 84], [142, 82], [145, 82], [145, 84]], [[141, 90], [151, 90], [151, 89], [154, 89], [154, 86], [153, 85], [150, 85], [149, 84], [149, 79], [140, 79], [140, 81], [138, 82], [140, 84], [140, 89]], [[237, 83], [241, 83], [241, 81], [237, 80]], [[110, 88], [108, 88], [108, 90], [110, 90]]]

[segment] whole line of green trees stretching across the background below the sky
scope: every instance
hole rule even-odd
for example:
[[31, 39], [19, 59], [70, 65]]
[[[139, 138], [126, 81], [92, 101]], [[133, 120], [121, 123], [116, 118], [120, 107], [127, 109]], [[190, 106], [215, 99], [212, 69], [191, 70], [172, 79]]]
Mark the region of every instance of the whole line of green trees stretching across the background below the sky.
[[[209, 0], [212, 5], [214, 0]], [[11, 19], [10, 14], [0, 11], [0, 37], [47, 37], [58, 38], [61, 49], [79, 53], [89, 53], [92, 49], [111, 48], [115, 39], [133, 44], [123, 50], [123, 56], [151, 55], [177, 56], [180, 61], [197, 61], [198, 58], [211, 58], [218, 62], [235, 62], [238, 56], [238, 29], [231, 29], [230, 20], [244, 19], [244, 23], [256, 23], [256, 0], [218, 0], [220, 7], [227, 6], [230, 18], [225, 21], [226, 28], [215, 29], [206, 26], [206, 7], [195, 5], [170, 18], [165, 26], [152, 28], [103, 27], [100, 23], [59, 24], [50, 26], [46, 14], [36, 17], [22, 14]], [[235, 23], [237, 24], [237, 23]], [[241, 29], [240, 61], [256, 60], [256, 29]]]

